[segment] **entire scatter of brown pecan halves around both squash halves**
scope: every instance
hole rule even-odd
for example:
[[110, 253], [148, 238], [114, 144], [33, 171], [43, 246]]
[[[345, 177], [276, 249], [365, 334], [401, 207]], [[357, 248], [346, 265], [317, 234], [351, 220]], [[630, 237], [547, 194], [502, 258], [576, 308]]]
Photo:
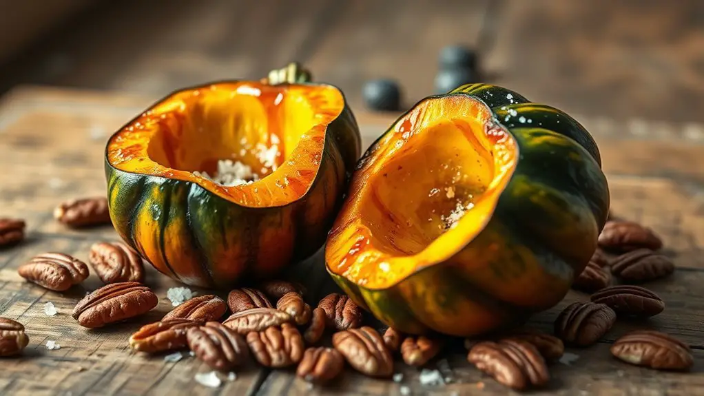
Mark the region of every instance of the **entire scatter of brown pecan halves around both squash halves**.
[[[104, 198], [63, 203], [55, 215], [70, 227], [109, 222]], [[19, 243], [24, 236], [25, 222], [0, 219], [0, 246]], [[554, 335], [520, 328], [467, 340], [467, 360], [515, 390], [546, 385], [549, 366], [562, 357], [565, 345], [588, 347], [620, 318], [647, 319], [665, 309], [657, 294], [637, 286], [674, 272], [661, 248], [662, 241], [652, 230], [610, 219], [598, 237], [596, 252], [573, 284], [591, 295], [560, 312]], [[142, 258], [125, 243], [95, 243], [88, 262], [105, 286], [75, 305], [73, 318], [80, 326], [109, 326], [158, 305], [158, 297], [144, 284]], [[64, 253], [44, 253], [22, 264], [18, 273], [61, 292], [87, 279], [89, 266]], [[297, 375], [310, 383], [336, 378], [346, 364], [367, 376], [389, 378], [394, 374], [394, 354], [420, 367], [446, 345], [446, 338], [407, 335], [394, 328], [381, 334], [364, 326], [362, 310], [347, 295], [327, 295], [315, 307], [308, 302], [306, 290], [288, 281], [231, 290], [227, 298], [201, 295], [178, 305], [161, 321], [139, 328], [129, 344], [147, 354], [188, 349], [217, 371], [233, 371], [251, 360], [274, 369], [297, 366]], [[19, 355], [28, 343], [22, 324], [0, 318], [0, 357]], [[651, 369], [686, 370], [693, 364], [686, 344], [648, 329], [625, 333], [610, 352], [623, 362]]]

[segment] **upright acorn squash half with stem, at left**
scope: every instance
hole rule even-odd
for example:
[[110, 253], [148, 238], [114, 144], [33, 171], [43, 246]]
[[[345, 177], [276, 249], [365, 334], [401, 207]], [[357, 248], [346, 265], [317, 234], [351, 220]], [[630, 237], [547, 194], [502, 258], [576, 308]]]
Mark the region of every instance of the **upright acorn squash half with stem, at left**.
[[[318, 250], [361, 141], [342, 92], [309, 77], [292, 65], [182, 89], [119, 129], [105, 165], [118, 234], [194, 286], [274, 276]], [[210, 177], [223, 160], [249, 179]]]

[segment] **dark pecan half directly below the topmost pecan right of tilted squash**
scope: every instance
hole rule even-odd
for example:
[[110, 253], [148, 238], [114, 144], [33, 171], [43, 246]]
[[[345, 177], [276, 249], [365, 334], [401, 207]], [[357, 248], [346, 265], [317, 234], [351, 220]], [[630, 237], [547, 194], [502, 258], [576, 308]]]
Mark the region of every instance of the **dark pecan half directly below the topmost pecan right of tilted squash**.
[[611, 272], [628, 282], [652, 281], [674, 272], [674, 264], [664, 255], [650, 249], [638, 249], [624, 253], [613, 260]]

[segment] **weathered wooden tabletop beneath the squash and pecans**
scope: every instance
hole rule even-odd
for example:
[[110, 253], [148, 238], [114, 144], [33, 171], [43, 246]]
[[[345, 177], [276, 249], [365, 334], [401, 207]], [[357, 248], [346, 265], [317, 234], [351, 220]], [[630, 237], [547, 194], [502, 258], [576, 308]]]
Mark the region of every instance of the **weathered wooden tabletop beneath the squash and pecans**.
[[[461, 340], [427, 364], [448, 377], [441, 386], [421, 385], [420, 371], [397, 361], [403, 381], [379, 381], [348, 369], [327, 388], [308, 389], [293, 370], [250, 366], [205, 388], [194, 374], [210, 371], [193, 357], [165, 362], [162, 356], [134, 353], [127, 338], [143, 324], [170, 310], [166, 290], [177, 286], [150, 267], [146, 282], [160, 304], [134, 321], [90, 331], [78, 326], [70, 312], [87, 290], [101, 286], [94, 274], [66, 293], [44, 290], [21, 279], [16, 268], [32, 255], [58, 250], [87, 260], [94, 241], [114, 240], [110, 227], [71, 231], [54, 222], [51, 212], [65, 198], [104, 194], [103, 148], [106, 139], [155, 98], [96, 91], [23, 87], [0, 103], [0, 216], [27, 219], [27, 240], [0, 250], [0, 316], [25, 325], [30, 345], [19, 359], [0, 361], [0, 395], [505, 395], [508, 392], [466, 362]], [[384, 130], [393, 117], [358, 112], [365, 143]], [[643, 222], [660, 234], [677, 264], [670, 279], [649, 283], [666, 302], [665, 312], [641, 323], [619, 321], [600, 343], [568, 348], [571, 362], [551, 366], [551, 382], [535, 395], [704, 395], [704, 174], [702, 134], [691, 125], [653, 123], [575, 115], [590, 129], [601, 148], [608, 174], [612, 210]], [[291, 269], [307, 283], [315, 303], [336, 290], [316, 255]], [[203, 290], [201, 290], [202, 292]], [[557, 307], [536, 315], [532, 324], [551, 331], [560, 308], [583, 293], [570, 292]], [[59, 309], [46, 317], [44, 304]], [[691, 373], [650, 371], [610, 357], [608, 347], [631, 328], [655, 328], [684, 340], [693, 349]], [[46, 350], [48, 340], [60, 350]]]

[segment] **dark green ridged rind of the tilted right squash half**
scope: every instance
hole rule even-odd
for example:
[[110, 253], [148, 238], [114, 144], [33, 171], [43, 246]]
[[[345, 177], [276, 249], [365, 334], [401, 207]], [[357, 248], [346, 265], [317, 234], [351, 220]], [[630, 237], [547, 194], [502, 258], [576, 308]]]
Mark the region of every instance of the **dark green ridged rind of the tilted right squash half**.
[[[552, 279], [548, 283], [553, 290], [542, 292], [546, 298], [539, 303], [496, 296], [482, 301], [481, 305], [493, 309], [501, 322], [492, 329], [522, 323], [530, 314], [552, 307], [584, 269], [608, 216], [609, 191], [601, 171], [601, 157], [591, 135], [579, 122], [560, 110], [531, 103], [502, 87], [469, 84], [447, 95], [456, 94], [485, 103], [494, 113], [494, 122], [510, 132], [519, 149], [519, 162], [489, 224], [450, 260], [419, 269], [390, 288], [358, 286], [344, 276], [332, 274], [326, 266], [355, 302], [386, 325], [406, 333], [439, 331], [474, 336], [487, 331], [472, 326], [447, 331], [450, 325], [437, 323], [437, 319], [429, 316], [446, 315], [460, 320], [453, 304], [467, 299], [477, 302], [496, 293], [491, 282], [477, 281], [477, 274], [463, 266], [460, 256], [470, 250], [481, 252], [489, 241], [495, 242], [497, 238], [506, 245], [520, 246], [524, 256], [491, 262], [489, 269], [483, 269], [486, 271], [483, 276], [491, 270], [496, 274], [496, 282], [518, 279], [531, 263], [524, 259], [532, 255], [541, 264], [542, 276]], [[430, 98], [442, 96], [445, 95]], [[387, 133], [393, 133], [393, 127], [372, 143], [360, 163], [376, 150]], [[413, 284], [432, 282], [441, 287], [432, 288], [432, 293], [420, 298], [414, 297]], [[480, 297], [476, 293], [481, 293]], [[440, 302], [432, 305], [439, 312], [432, 315], [424, 312], [428, 298]]]

